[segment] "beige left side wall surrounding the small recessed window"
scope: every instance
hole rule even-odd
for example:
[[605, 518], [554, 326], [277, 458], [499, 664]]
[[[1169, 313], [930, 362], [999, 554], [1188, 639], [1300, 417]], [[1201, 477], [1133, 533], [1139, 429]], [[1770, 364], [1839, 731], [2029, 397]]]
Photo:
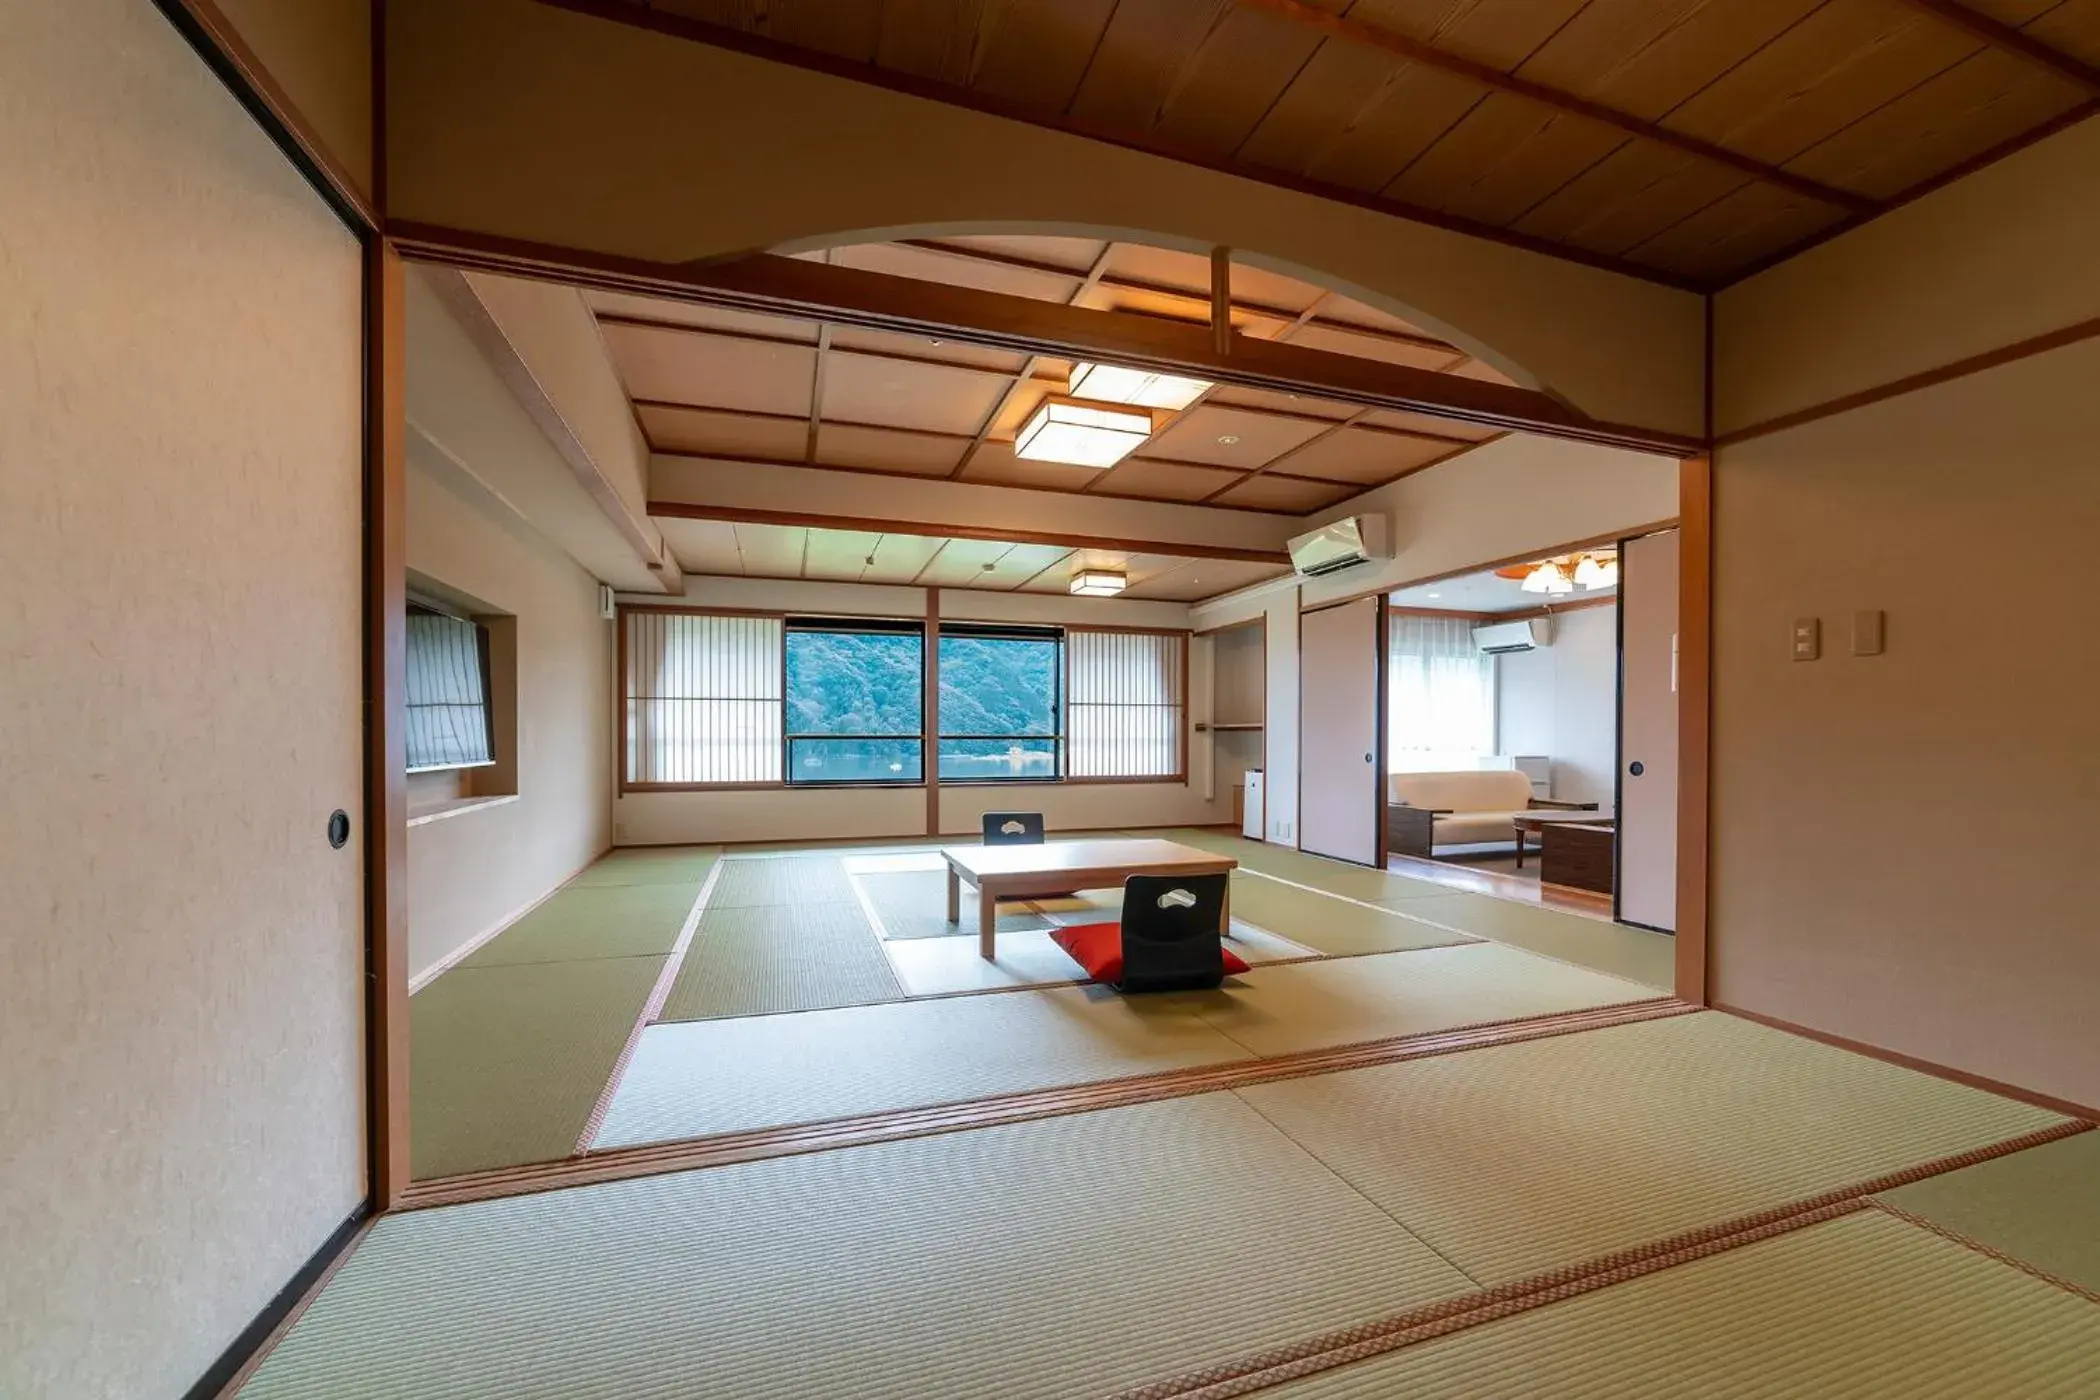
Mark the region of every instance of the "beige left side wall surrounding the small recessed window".
[[410, 827], [416, 980], [613, 844], [613, 623], [598, 581], [470, 476], [428, 453], [410, 468], [410, 571], [517, 619], [517, 802]]

